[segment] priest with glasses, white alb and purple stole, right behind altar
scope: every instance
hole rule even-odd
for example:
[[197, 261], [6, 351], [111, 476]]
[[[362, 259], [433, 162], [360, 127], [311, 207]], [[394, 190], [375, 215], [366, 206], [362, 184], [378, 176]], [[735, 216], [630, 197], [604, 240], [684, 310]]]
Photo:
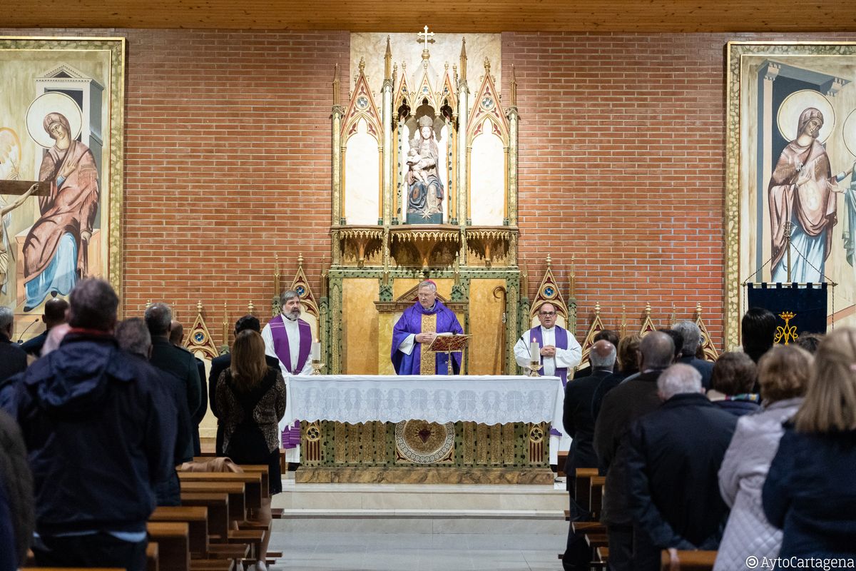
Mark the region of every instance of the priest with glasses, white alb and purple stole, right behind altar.
[[549, 302], [541, 304], [538, 309], [538, 321], [541, 324], [520, 336], [520, 340], [514, 345], [514, 359], [528, 372], [532, 361], [529, 355], [530, 343], [538, 342], [538, 360], [544, 366], [541, 374], [545, 377], [561, 378], [562, 386], [565, 386], [568, 384], [568, 369], [580, 365], [583, 351], [580, 343], [568, 330], [556, 325], [556, 317], [556, 306]]

